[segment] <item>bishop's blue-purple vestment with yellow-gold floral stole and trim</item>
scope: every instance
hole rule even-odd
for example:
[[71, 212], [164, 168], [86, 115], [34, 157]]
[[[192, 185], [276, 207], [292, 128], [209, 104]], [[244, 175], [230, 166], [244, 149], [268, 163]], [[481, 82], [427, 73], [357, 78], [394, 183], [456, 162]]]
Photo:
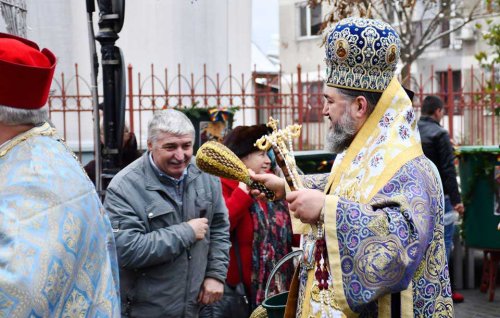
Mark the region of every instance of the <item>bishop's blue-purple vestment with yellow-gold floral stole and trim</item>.
[[[337, 156], [328, 181], [304, 181], [327, 194], [330, 277], [320, 292], [315, 268], [301, 267], [297, 317], [393, 317], [398, 308], [398, 317], [453, 317], [442, 185], [397, 79]], [[309, 231], [295, 220], [296, 230]], [[311, 234], [304, 238], [311, 246]]]

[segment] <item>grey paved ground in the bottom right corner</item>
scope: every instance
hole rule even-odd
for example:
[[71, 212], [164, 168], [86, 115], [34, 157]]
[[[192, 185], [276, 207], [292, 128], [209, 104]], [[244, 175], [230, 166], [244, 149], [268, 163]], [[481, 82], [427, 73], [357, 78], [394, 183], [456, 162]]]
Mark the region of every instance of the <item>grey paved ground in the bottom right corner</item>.
[[465, 301], [455, 304], [455, 318], [500, 317], [500, 286], [495, 290], [495, 300], [488, 301], [487, 294], [477, 289], [457, 290], [465, 296]]

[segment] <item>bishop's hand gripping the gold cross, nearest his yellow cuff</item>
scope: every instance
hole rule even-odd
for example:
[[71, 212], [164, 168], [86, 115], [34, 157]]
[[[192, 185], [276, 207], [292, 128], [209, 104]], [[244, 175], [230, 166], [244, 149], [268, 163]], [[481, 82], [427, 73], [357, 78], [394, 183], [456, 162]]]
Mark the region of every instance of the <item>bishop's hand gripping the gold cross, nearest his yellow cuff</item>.
[[325, 204], [325, 194], [318, 190], [300, 189], [286, 195], [290, 211], [302, 223], [316, 224]]

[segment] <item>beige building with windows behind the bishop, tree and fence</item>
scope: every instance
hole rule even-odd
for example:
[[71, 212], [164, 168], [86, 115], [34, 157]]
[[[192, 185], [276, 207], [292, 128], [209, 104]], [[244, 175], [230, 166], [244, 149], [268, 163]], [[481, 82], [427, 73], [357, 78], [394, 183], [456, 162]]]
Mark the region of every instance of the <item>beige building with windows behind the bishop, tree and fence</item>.
[[[471, 10], [475, 1], [455, 0], [451, 1], [451, 16], [459, 16], [459, 13], [467, 13]], [[419, 0], [415, 9], [416, 17], [413, 26], [417, 30], [417, 37], [426, 31], [429, 21], [433, 18], [435, 12], [432, 10], [422, 15], [424, 11], [424, 1]], [[460, 8], [460, 9], [459, 9]], [[480, 1], [480, 7], [476, 10], [485, 12], [486, 2]], [[492, 12], [500, 12], [500, 8], [490, 8]], [[463, 12], [458, 12], [463, 10]], [[316, 8], [307, 6], [304, 0], [280, 0], [280, 46], [279, 54], [281, 69], [285, 76], [291, 74], [288, 80], [297, 80], [297, 65], [301, 66], [301, 80], [303, 82], [303, 91], [306, 94], [306, 104], [308, 109], [321, 107], [322, 79], [325, 72], [324, 65], [324, 47], [322, 46], [323, 37], [318, 35], [324, 16], [330, 11], [328, 4], [323, 3]], [[389, 13], [390, 16], [397, 16], [397, 12]], [[463, 14], [464, 15], [464, 14]], [[489, 17], [491, 18], [491, 17]], [[494, 19], [499, 20], [498, 17]], [[397, 21], [397, 19], [394, 19]], [[452, 18], [447, 23], [443, 23], [438, 32], [446, 32], [459, 25], [463, 20]], [[485, 78], [491, 78], [489, 70], [481, 69], [478, 61], [474, 57], [479, 51], [491, 50], [482, 39], [482, 34], [475, 27], [476, 23], [483, 23], [484, 19], [476, 20], [467, 24], [458, 31], [452, 32], [440, 40], [427, 47], [422, 55], [412, 64], [411, 68], [411, 86], [417, 93], [421, 90], [424, 94], [437, 94], [448, 90], [448, 69], [452, 71], [453, 92], [455, 93], [455, 115], [453, 118], [455, 140], [462, 142], [471, 142], [467, 140], [466, 127], [477, 127], [476, 123], [469, 123], [469, 118], [465, 113], [465, 108], [471, 107], [475, 102], [473, 98], [462, 95], [461, 92], [468, 92], [472, 89], [479, 89], [481, 84], [481, 73], [484, 71]], [[393, 23], [395, 24], [395, 22]], [[396, 28], [397, 29], [397, 28]], [[404, 45], [404, 43], [402, 43]], [[398, 72], [400, 72], [400, 65]], [[474, 74], [471, 75], [471, 69]], [[496, 72], [496, 82], [500, 83], [500, 69]], [[462, 98], [461, 96], [465, 96]], [[442, 96], [443, 97], [443, 96]], [[461, 99], [462, 98], [462, 99]], [[468, 99], [467, 99], [468, 98]], [[419, 106], [420, 100], [415, 100], [416, 106]], [[462, 108], [462, 111], [459, 109]], [[486, 113], [475, 114], [474, 116], [486, 116], [484, 121], [484, 130], [491, 136], [492, 129], [495, 129], [496, 135], [499, 135], [500, 129], [498, 117], [493, 119], [495, 127], [492, 127], [491, 118]], [[472, 116], [472, 115], [471, 115]], [[490, 116], [491, 117], [491, 116]], [[445, 127], [449, 127], [449, 120], [446, 117], [443, 121]], [[481, 128], [482, 129], [482, 128]], [[495, 134], [495, 131], [493, 131]], [[475, 138], [475, 137], [473, 137]], [[490, 138], [491, 139], [491, 138]], [[500, 136], [496, 137], [496, 141]], [[488, 143], [488, 140], [484, 141]]]

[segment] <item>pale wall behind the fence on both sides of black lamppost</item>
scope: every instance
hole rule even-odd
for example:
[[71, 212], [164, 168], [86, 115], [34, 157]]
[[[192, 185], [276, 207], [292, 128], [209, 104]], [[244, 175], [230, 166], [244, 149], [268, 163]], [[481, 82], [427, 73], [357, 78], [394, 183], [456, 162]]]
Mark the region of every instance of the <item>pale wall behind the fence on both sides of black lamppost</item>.
[[[58, 58], [55, 78], [61, 81], [61, 73], [64, 73], [67, 83], [74, 75], [74, 64], [78, 63], [80, 76], [90, 81], [85, 1], [27, 0], [27, 8], [28, 38], [52, 50]], [[5, 31], [1, 17], [0, 20], [0, 31]], [[97, 33], [97, 12], [94, 20]], [[215, 74], [220, 73], [221, 81], [228, 76], [228, 65], [232, 64], [233, 75], [240, 79], [244, 73], [248, 81], [252, 71], [251, 21], [252, 0], [126, 1], [125, 23], [116, 45], [124, 53], [125, 64], [133, 65], [134, 91], [137, 91], [137, 72], [141, 72], [144, 79], [150, 74], [151, 64], [155, 65], [162, 81], [164, 68], [169, 69], [170, 81], [177, 74], [178, 64], [188, 79], [190, 73], [194, 73], [195, 81], [203, 75], [203, 64], [207, 66], [207, 75], [215, 79]], [[101, 84], [98, 85], [102, 92]], [[199, 85], [203, 89], [203, 84]], [[52, 89], [59, 90], [54, 84]], [[75, 92], [74, 86], [69, 85], [67, 89], [69, 93]], [[80, 89], [81, 94], [90, 94], [85, 84]], [[176, 86], [172, 89], [177, 91]], [[223, 92], [228, 89], [223, 86]], [[247, 87], [247, 92], [251, 89]], [[68, 102], [71, 103], [71, 99]], [[90, 100], [86, 103], [90, 107]], [[54, 114], [52, 120], [58, 130], [64, 130], [61, 114]], [[66, 119], [66, 139], [72, 146], [78, 140], [75, 120]], [[82, 120], [87, 123], [82, 124], [80, 130], [83, 146], [92, 148], [90, 114], [85, 114]]]

